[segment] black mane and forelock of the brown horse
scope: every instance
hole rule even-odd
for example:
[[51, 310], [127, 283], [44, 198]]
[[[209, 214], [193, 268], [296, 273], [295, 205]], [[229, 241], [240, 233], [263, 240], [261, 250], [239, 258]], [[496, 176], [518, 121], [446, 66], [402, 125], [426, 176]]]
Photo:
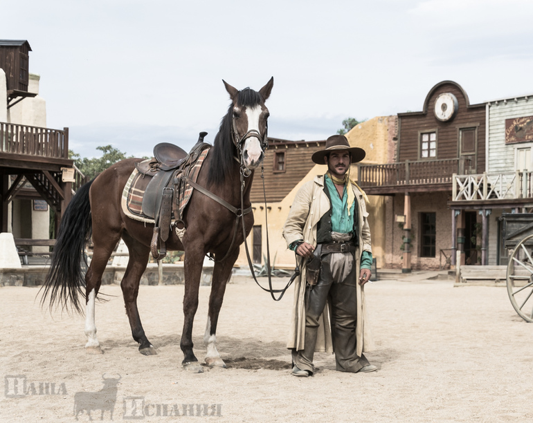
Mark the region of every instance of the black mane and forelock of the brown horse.
[[[244, 88], [244, 90], [237, 93], [237, 106], [255, 106], [256, 104], [260, 104], [260, 102], [262, 102], [260, 93], [253, 91], [251, 88]], [[220, 122], [220, 128], [215, 136], [213, 148], [209, 153], [210, 156], [213, 156], [213, 159], [209, 167], [208, 185], [222, 185], [233, 167], [237, 165], [237, 161], [234, 159], [234, 157], [237, 157], [237, 149], [233, 145], [231, 138], [232, 119], [233, 103], [230, 104], [228, 113], [226, 113], [224, 118], [222, 118], [222, 122]]]

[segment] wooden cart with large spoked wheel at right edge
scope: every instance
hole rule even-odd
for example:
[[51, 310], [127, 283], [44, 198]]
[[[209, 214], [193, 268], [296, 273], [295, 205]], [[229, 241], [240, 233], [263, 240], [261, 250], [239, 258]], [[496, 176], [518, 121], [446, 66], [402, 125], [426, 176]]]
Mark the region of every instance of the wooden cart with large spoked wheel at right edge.
[[507, 293], [518, 316], [533, 322], [533, 213], [504, 213], [502, 220]]

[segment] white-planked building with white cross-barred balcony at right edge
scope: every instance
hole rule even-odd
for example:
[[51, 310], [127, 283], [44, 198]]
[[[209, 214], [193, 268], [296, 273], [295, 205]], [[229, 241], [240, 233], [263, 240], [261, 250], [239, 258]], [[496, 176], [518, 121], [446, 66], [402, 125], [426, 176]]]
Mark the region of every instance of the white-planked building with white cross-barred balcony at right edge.
[[488, 265], [507, 265], [502, 214], [533, 208], [532, 100], [521, 95], [487, 102], [486, 166], [453, 178], [449, 207], [459, 216], [481, 214], [482, 261]]

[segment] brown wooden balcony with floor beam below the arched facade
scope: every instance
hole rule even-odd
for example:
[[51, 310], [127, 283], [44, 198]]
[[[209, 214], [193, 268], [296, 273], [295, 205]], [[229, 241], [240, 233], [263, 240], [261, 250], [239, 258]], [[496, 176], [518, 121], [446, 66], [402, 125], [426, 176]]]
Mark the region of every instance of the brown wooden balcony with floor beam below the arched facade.
[[469, 159], [418, 160], [359, 164], [359, 186], [366, 194], [451, 191], [453, 175], [464, 173]]

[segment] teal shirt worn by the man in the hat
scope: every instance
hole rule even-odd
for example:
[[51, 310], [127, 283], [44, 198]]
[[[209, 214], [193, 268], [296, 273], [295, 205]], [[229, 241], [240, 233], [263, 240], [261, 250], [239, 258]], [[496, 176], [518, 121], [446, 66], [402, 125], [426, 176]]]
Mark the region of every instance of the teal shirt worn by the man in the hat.
[[[339, 232], [341, 234], [350, 234], [353, 229], [354, 222], [354, 209], [355, 203], [350, 207], [350, 216], [348, 216], [348, 194], [346, 192], [346, 185], [344, 186], [343, 198], [338, 195], [338, 191], [329, 178], [325, 175], [324, 180], [326, 187], [329, 190], [329, 197], [332, 200], [332, 231]], [[291, 244], [290, 249], [296, 250], [301, 241], [295, 241]], [[368, 251], [363, 251], [361, 253], [361, 269], [372, 269], [372, 253]]]

